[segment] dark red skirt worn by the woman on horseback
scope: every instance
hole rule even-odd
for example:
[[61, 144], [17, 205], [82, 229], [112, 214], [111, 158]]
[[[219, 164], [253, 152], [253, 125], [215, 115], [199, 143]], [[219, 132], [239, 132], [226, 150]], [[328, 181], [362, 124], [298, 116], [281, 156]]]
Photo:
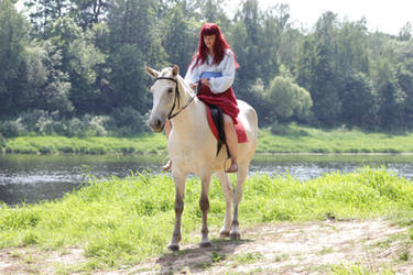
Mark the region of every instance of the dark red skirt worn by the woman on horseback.
[[[200, 81], [198, 85], [200, 85]], [[203, 85], [198, 90], [198, 98], [207, 105], [219, 106], [225, 114], [231, 117], [233, 124], [238, 123], [237, 116], [239, 113], [239, 108], [232, 87], [229, 87], [229, 89], [221, 94], [214, 94], [208, 86]]]

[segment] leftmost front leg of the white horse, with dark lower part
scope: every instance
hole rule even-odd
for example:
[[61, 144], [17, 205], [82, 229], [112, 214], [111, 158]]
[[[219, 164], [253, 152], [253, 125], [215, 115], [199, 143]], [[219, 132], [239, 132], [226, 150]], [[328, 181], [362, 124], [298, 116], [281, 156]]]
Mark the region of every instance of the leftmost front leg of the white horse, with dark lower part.
[[182, 212], [184, 211], [184, 191], [185, 191], [185, 176], [173, 175], [175, 180], [175, 224], [174, 232], [172, 233], [172, 240], [169, 250], [177, 251], [180, 250], [180, 241], [182, 239], [181, 234], [181, 223], [182, 223]]

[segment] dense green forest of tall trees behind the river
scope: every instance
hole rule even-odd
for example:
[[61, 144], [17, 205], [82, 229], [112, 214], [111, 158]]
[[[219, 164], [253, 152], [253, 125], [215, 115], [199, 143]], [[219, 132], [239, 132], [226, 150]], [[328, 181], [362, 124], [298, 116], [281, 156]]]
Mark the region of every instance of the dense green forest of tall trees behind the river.
[[413, 28], [369, 31], [325, 12], [311, 30], [287, 4], [244, 0], [0, 0], [0, 133], [133, 135], [149, 131], [145, 65], [185, 75], [204, 22], [237, 55], [238, 99], [261, 128], [300, 123], [413, 130]]

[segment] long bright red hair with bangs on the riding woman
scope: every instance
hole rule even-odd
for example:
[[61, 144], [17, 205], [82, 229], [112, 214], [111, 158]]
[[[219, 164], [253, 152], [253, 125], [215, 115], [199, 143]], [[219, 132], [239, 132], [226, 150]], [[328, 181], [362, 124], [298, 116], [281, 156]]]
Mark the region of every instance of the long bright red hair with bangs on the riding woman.
[[[209, 50], [204, 43], [204, 36], [214, 35], [214, 34], [216, 35], [215, 44], [214, 44], [214, 64], [219, 64], [224, 59], [225, 50], [229, 48], [233, 53], [232, 48], [228, 44], [219, 26], [215, 23], [205, 23], [199, 32], [198, 50], [192, 58], [193, 61], [194, 59], [196, 61], [193, 68], [195, 68], [199, 64], [204, 64], [207, 61]], [[236, 63], [236, 68], [239, 68], [239, 64], [236, 61], [235, 53], [233, 53], [233, 59]]]

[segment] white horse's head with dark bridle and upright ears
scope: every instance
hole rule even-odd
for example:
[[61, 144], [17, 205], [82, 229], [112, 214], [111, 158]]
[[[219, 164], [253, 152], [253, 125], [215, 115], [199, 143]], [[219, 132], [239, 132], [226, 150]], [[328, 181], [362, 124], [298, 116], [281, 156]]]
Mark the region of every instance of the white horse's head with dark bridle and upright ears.
[[174, 65], [172, 68], [164, 68], [161, 72], [145, 67], [145, 70], [148, 75], [155, 79], [155, 82], [151, 87], [153, 106], [149, 124], [152, 131], [161, 132], [166, 119], [175, 108], [176, 100], [180, 100], [177, 88], [180, 67]]

